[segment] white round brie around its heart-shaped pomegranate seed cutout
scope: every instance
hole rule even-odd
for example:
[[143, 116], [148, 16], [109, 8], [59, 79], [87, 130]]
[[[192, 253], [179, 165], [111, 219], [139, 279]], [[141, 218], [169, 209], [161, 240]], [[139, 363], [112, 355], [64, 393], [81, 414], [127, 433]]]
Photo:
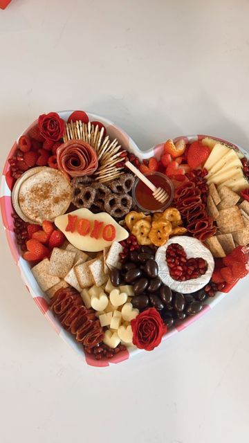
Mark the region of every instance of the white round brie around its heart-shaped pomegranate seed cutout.
[[[198, 278], [185, 280], [184, 282], [174, 280], [174, 278], [169, 275], [169, 267], [166, 261], [167, 247], [172, 243], [177, 243], [183, 246], [187, 258], [200, 257], [206, 260], [208, 269], [205, 274], [200, 275]], [[160, 246], [156, 251], [156, 263], [158, 264], [158, 275], [163, 283], [167, 284], [167, 286], [173, 291], [182, 293], [199, 291], [199, 289], [203, 288], [205, 284], [210, 281], [214, 271], [214, 257], [212, 256], [212, 253], [210, 253], [210, 250], [206, 248], [199, 239], [187, 237], [185, 235], [172, 237], [165, 245]]]

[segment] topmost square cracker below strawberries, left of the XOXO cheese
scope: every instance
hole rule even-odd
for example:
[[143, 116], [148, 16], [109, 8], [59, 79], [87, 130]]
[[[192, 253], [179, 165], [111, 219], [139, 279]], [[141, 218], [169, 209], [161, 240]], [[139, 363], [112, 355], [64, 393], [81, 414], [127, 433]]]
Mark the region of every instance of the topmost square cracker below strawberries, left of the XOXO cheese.
[[49, 273], [64, 278], [73, 266], [74, 260], [75, 252], [53, 248], [49, 262]]

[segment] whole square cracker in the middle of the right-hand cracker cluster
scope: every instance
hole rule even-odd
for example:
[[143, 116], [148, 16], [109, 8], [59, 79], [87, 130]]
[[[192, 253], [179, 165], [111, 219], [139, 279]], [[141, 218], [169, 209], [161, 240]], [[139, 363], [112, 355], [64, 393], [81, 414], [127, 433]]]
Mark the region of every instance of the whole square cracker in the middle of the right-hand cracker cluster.
[[216, 224], [222, 234], [229, 234], [243, 229], [243, 219], [238, 206], [220, 210], [219, 217], [216, 218]]

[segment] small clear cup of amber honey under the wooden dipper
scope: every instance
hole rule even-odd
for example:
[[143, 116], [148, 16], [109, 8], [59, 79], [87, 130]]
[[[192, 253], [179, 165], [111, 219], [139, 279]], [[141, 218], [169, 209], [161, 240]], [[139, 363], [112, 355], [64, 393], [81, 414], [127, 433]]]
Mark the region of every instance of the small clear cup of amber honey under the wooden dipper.
[[156, 213], [165, 210], [174, 198], [174, 185], [172, 181], [161, 172], [149, 172], [145, 176], [156, 188], [163, 188], [167, 192], [168, 198], [164, 203], [160, 203], [160, 201], [153, 197], [152, 191], [145, 183], [140, 179], [136, 179], [132, 190], [133, 201], [142, 212]]

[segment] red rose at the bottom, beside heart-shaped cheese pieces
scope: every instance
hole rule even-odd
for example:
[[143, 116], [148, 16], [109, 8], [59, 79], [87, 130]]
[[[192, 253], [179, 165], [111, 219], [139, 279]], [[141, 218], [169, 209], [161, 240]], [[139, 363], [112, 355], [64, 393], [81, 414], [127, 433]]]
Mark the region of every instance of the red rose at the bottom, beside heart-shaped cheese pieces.
[[131, 329], [133, 345], [146, 351], [154, 350], [154, 347], [160, 344], [163, 334], [167, 332], [167, 327], [154, 307], [146, 309], [133, 318]]

